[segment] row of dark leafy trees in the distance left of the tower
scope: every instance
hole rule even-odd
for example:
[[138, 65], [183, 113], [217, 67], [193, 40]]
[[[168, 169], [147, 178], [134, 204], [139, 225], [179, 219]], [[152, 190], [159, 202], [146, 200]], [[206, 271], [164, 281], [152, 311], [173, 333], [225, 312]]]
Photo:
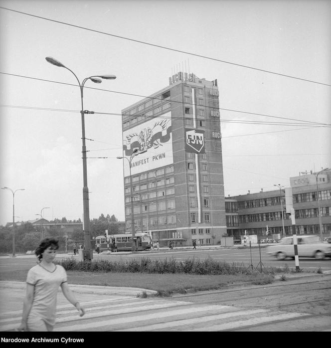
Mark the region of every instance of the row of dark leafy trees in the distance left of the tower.
[[[101, 214], [98, 218], [90, 220], [90, 235], [93, 237], [103, 235], [108, 229], [109, 234], [119, 233], [119, 228], [114, 222], [118, 221], [115, 215], [104, 216]], [[59, 240], [60, 250], [65, 249], [66, 233], [65, 229], [60, 227], [61, 223], [81, 223], [81, 220], [67, 220], [65, 217], [61, 219], [55, 218], [49, 223], [57, 223], [59, 226], [45, 227], [43, 226], [44, 237], [55, 237]], [[20, 225], [15, 224], [15, 252], [26, 252], [34, 250], [40, 242], [41, 230], [40, 225], [32, 225], [31, 222], [21, 222]], [[12, 252], [12, 227], [0, 226], [0, 253]], [[73, 232], [67, 233], [67, 248], [71, 250], [72, 244], [76, 241], [84, 240], [83, 227], [77, 227]]]

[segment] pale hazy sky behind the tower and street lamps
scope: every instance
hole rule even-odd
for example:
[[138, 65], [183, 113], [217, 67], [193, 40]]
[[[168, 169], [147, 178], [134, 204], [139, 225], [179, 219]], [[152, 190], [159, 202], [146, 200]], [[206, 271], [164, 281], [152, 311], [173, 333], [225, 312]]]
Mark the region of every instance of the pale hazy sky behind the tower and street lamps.
[[[95, 112], [85, 115], [91, 219], [124, 221], [121, 111], [181, 67], [218, 81], [225, 196], [289, 187], [291, 176], [331, 167], [330, 0], [0, 7], [0, 186], [24, 188], [14, 194], [15, 221], [41, 211], [48, 220], [83, 216], [80, 91], [46, 56], [80, 81], [117, 76], [84, 87], [84, 109]], [[12, 204], [0, 190], [0, 225], [12, 221]]]

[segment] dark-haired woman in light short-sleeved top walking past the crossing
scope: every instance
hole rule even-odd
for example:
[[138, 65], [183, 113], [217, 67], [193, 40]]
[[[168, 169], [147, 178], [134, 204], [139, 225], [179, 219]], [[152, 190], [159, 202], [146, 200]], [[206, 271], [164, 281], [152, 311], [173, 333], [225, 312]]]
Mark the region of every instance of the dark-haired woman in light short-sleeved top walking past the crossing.
[[43, 239], [35, 250], [36, 266], [27, 272], [22, 322], [18, 331], [52, 331], [55, 325], [56, 295], [61, 287], [66, 299], [82, 317], [85, 310], [69, 289], [65, 269], [53, 263], [58, 249], [55, 238]]

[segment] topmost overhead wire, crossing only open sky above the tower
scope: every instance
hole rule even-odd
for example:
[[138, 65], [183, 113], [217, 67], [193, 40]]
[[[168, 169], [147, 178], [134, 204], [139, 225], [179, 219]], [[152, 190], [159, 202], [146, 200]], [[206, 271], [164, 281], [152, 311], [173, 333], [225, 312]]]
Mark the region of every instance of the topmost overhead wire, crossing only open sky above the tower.
[[229, 61], [225, 61], [225, 60], [221, 60], [221, 59], [217, 59], [217, 58], [212, 58], [212, 57], [208, 57], [208, 56], [203, 56], [201, 54], [197, 54], [197, 53], [191, 53], [191, 52], [186, 52], [186, 51], [182, 51], [179, 49], [175, 49], [175, 48], [170, 48], [170, 47], [166, 47], [166, 46], [161, 46], [161, 45], [157, 45], [154, 43], [150, 43], [150, 42], [146, 42], [146, 41], [141, 41], [141, 40], [136, 40], [136, 39], [132, 39], [129, 37], [125, 37], [125, 36], [120, 36], [120, 35], [115, 35], [115, 34], [110, 34], [104, 31], [100, 31], [100, 30], [95, 30], [95, 29], [90, 29], [84, 26], [80, 26], [80, 25], [75, 25], [75, 24], [70, 24], [70, 23], [66, 23], [66, 22], [62, 22], [60, 20], [55, 20], [55, 19], [51, 19], [51, 18], [46, 18], [46, 17], [42, 17], [42, 16], [38, 16], [35, 14], [31, 14], [31, 13], [26, 13], [26, 12], [22, 12], [22, 11], [17, 11], [11, 8], [6, 8], [6, 7], [2, 7], [0, 6], [0, 8], [8, 10], [8, 11], [12, 11], [12, 12], [17, 12], [17, 13], [21, 13], [21, 14], [25, 14], [31, 17], [35, 17], [35, 18], [40, 18], [40, 19], [44, 19], [44, 20], [49, 20], [55, 23], [59, 23], [59, 24], [64, 24], [64, 25], [69, 25], [75, 28], [79, 28], [79, 29], [84, 29], [84, 30], [89, 30], [89, 31], [93, 31], [93, 32], [97, 32], [99, 34], [103, 34], [103, 35], [108, 35], [108, 36], [113, 36], [113, 37], [117, 37], [123, 40], [129, 40], [129, 41], [133, 41], [133, 42], [138, 42], [138, 43], [142, 43], [145, 45], [149, 45], [149, 46], [153, 46], [153, 47], [158, 47], [158, 48], [163, 48], [169, 51], [174, 51], [174, 52], [179, 52], [179, 53], [185, 53], [185, 54], [189, 54], [195, 57], [200, 57], [200, 58], [205, 58], [205, 59], [209, 59], [209, 60], [214, 60], [217, 62], [221, 62], [221, 63], [226, 63], [226, 64], [232, 64], [232, 65], [236, 65], [236, 66], [241, 66], [243, 68], [247, 68], [247, 69], [253, 69], [253, 70], [257, 70], [257, 71], [262, 71], [262, 72], [266, 72], [269, 74], [274, 74], [274, 75], [279, 75], [279, 76], [284, 76], [284, 77], [289, 77], [289, 78], [293, 78], [293, 79], [297, 79], [297, 80], [302, 80], [302, 81], [306, 81], [306, 82], [312, 82], [312, 83], [317, 83], [320, 85], [325, 85], [325, 86], [331, 86], [330, 84], [327, 83], [322, 83], [322, 82], [318, 82], [318, 81], [313, 81], [313, 80], [308, 80], [308, 79], [304, 79], [304, 78], [300, 78], [300, 77], [296, 77], [296, 76], [291, 76], [291, 75], [286, 75], [286, 74], [281, 74], [281, 73], [277, 73], [274, 71], [270, 71], [270, 70], [264, 70], [264, 69], [259, 69], [259, 68], [255, 68], [252, 66], [248, 66], [248, 65], [243, 65], [243, 64], [238, 64], [238, 63], [233, 63], [233, 62], [229, 62]]

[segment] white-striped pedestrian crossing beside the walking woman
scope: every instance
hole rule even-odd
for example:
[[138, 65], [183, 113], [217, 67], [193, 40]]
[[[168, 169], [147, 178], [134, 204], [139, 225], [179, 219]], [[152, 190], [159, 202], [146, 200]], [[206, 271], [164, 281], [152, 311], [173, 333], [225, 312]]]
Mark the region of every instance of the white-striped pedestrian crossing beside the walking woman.
[[[81, 304], [86, 310], [83, 317], [79, 317], [70, 304], [57, 307], [54, 332], [227, 331], [308, 316], [306, 313], [243, 309], [165, 298], [119, 296]], [[1, 313], [0, 331], [13, 331], [20, 321], [21, 311]]]

